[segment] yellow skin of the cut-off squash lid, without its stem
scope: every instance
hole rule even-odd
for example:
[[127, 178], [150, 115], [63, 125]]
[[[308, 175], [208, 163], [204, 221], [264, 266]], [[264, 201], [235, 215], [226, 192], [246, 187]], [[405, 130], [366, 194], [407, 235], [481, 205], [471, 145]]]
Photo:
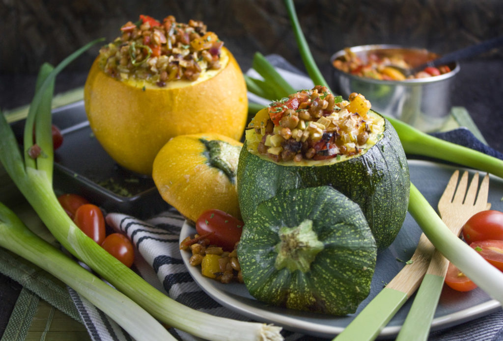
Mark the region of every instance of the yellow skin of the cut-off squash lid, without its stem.
[[[206, 146], [200, 139], [220, 140], [232, 146], [242, 143], [214, 133], [181, 135], [161, 148], [153, 162], [152, 178], [160, 195], [187, 219], [196, 221], [207, 209], [216, 208], [241, 218], [234, 181], [205, 156]], [[237, 169], [237, 154], [228, 154]]]

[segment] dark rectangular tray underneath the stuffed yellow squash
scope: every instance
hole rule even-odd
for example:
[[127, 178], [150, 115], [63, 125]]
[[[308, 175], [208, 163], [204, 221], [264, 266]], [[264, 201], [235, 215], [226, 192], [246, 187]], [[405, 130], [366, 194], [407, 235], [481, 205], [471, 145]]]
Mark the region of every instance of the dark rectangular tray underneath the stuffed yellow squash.
[[[56, 194], [79, 194], [106, 212], [140, 219], [170, 207], [151, 177], [122, 168], [102, 148], [91, 131], [83, 101], [58, 107], [52, 114], [53, 124], [63, 134], [63, 144], [54, 152]], [[24, 121], [12, 127], [22, 141]]]

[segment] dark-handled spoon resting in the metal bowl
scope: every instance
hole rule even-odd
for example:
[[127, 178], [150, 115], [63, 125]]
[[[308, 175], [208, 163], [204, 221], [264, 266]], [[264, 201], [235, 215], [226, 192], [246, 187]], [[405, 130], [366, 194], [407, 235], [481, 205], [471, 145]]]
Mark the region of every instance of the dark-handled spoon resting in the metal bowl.
[[405, 75], [405, 78], [407, 78], [408, 76], [414, 75], [419, 71], [423, 71], [428, 66], [437, 67], [437, 66], [446, 65], [446, 64], [449, 64], [449, 63], [452, 63], [455, 61], [459, 61], [461, 59], [470, 58], [470, 57], [476, 56], [482, 52], [488, 51], [494, 47], [497, 47], [501, 44], [503, 44], [503, 36], [492, 38], [492, 39], [483, 41], [479, 44], [471, 45], [471, 46], [465, 47], [461, 50], [450, 52], [440, 58], [431, 60], [429, 62], [426, 62], [424, 64], [418, 65], [413, 68], [406, 69], [406, 68], [403, 68], [403, 67], [397, 66], [397, 65], [388, 65], [388, 66], [391, 66], [391, 67], [397, 69], [398, 71], [400, 71], [401, 73], [403, 73]]

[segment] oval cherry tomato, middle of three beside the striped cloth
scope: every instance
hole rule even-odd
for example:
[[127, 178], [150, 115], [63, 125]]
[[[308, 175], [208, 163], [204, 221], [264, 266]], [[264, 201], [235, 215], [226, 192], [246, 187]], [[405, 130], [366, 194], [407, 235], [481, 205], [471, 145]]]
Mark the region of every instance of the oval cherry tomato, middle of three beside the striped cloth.
[[100, 207], [94, 204], [83, 204], [75, 211], [73, 221], [83, 233], [96, 243], [105, 239], [105, 218]]

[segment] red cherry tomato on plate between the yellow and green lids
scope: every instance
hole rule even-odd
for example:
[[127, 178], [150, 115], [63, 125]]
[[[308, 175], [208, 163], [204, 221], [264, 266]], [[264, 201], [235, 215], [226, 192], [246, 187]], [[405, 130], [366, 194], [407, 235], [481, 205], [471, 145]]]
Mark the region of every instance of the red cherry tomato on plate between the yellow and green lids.
[[234, 245], [241, 238], [243, 222], [219, 209], [204, 211], [196, 221], [199, 235], [208, 236], [210, 244], [221, 247], [224, 251], [234, 250]]

